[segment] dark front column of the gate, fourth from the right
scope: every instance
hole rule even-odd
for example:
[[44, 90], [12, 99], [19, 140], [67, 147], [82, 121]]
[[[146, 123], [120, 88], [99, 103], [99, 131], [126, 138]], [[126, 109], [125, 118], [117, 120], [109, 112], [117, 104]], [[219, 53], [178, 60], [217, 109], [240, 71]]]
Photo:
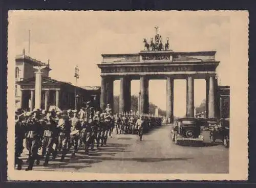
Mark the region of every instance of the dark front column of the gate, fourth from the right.
[[140, 108], [142, 113], [148, 113], [148, 79], [144, 76], [140, 77], [140, 93], [141, 93], [141, 100], [140, 100]]

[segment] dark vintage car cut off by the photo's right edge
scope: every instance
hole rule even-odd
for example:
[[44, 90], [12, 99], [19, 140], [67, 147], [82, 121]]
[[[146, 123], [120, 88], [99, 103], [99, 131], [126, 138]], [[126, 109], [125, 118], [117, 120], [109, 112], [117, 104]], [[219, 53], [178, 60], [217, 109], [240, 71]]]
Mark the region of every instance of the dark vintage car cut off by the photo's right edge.
[[229, 118], [222, 118], [219, 124], [209, 127], [210, 142], [215, 143], [216, 139], [221, 139], [223, 145], [229, 148]]

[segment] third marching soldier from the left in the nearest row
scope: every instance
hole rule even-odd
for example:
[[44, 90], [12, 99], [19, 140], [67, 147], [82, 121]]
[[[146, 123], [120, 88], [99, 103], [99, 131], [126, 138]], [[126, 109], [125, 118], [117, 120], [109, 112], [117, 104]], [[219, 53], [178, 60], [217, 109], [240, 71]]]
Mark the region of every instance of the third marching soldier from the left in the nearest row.
[[44, 121], [46, 122], [46, 127], [44, 130], [42, 145], [46, 148], [46, 158], [44, 166], [47, 166], [50, 160], [51, 153], [54, 154], [53, 144], [56, 140], [56, 123], [52, 117], [52, 113], [48, 112]]

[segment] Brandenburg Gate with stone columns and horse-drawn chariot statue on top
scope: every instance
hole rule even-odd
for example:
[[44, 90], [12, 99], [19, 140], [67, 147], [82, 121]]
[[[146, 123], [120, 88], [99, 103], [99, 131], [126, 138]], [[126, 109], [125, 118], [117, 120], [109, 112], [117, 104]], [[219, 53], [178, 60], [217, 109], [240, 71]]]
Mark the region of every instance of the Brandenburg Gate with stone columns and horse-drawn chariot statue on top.
[[[131, 80], [140, 80], [139, 114], [147, 114], [148, 81], [166, 80], [166, 116], [173, 120], [174, 114], [174, 79], [186, 79], [186, 116], [194, 117], [194, 80], [206, 80], [206, 116], [216, 117], [216, 68], [215, 51], [174, 52], [165, 46], [159, 34], [156, 41], [147, 43], [145, 49], [137, 54], [102, 54], [100, 107], [106, 104], [113, 107], [113, 81], [120, 80], [119, 113], [131, 110]], [[154, 88], [158, 89], [158, 88]], [[161, 92], [161, 90], [159, 90]]]

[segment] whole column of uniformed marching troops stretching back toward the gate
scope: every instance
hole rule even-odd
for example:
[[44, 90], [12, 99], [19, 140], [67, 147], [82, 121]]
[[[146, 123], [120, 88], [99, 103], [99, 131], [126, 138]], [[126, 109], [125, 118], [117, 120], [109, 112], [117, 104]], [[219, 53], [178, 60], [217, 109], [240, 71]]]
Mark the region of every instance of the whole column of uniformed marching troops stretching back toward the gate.
[[48, 166], [50, 157], [55, 160], [58, 150], [61, 151], [60, 161], [65, 159], [71, 148], [73, 148], [71, 156], [74, 156], [81, 147], [84, 149], [84, 154], [89, 155], [89, 150], [94, 151], [95, 145], [97, 148], [106, 146], [108, 136], [112, 137], [114, 129], [116, 134], [138, 134], [142, 140], [145, 130], [159, 124], [161, 124], [160, 117], [145, 114], [124, 113], [114, 116], [109, 104], [102, 113], [90, 107], [90, 102], [87, 102], [87, 107], [81, 108], [79, 112], [40, 109], [24, 112], [22, 109], [17, 109], [15, 167], [17, 166], [17, 170], [22, 169], [23, 160], [19, 157], [25, 147], [29, 152], [28, 167], [25, 170], [29, 171], [33, 169], [34, 163], [39, 165], [40, 158], [44, 158], [43, 166]]

